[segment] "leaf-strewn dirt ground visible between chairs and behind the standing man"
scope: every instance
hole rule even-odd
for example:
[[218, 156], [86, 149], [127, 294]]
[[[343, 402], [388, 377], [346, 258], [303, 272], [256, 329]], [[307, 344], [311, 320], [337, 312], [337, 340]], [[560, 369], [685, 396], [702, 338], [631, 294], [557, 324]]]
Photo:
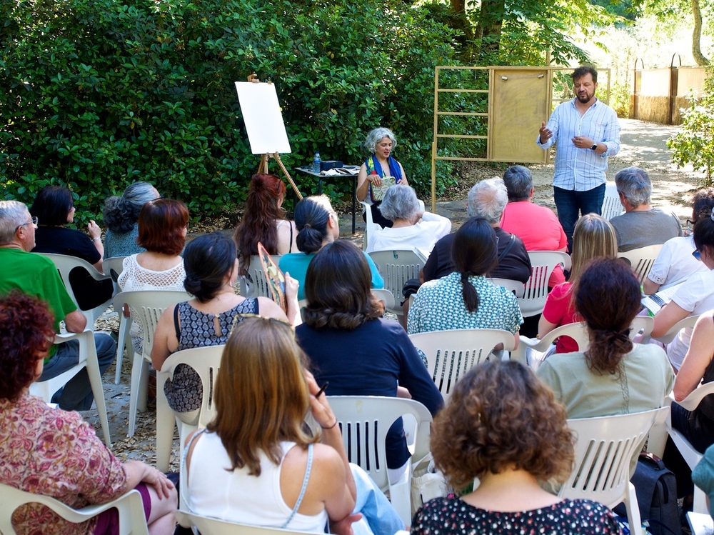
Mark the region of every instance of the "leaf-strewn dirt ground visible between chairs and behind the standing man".
[[[677, 169], [670, 162], [670, 151], [666, 141], [673, 136], [677, 126], [663, 126], [645, 123], [631, 119], [620, 119], [622, 124], [620, 154], [610, 157], [608, 180], [614, 181], [615, 173], [628, 166], [639, 166], [645, 169], [653, 182], [653, 204], [667, 206], [675, 211], [682, 223], [691, 216], [688, 206], [688, 196], [697, 188], [697, 181], [701, 174], [695, 173], [691, 167]], [[535, 139], [535, 131], [533, 132]], [[535, 202], [550, 206], [553, 204], [553, 165], [529, 165], [533, 172], [535, 183]], [[452, 200], [437, 202], [437, 212], [448, 216], [457, 228], [466, 220], [466, 192], [478, 180], [500, 176], [506, 165], [471, 165], [463, 166], [461, 176], [463, 180], [458, 188], [450, 192]], [[425, 199], [427, 206], [430, 199]], [[361, 245], [364, 224], [361, 216], [356, 217], [356, 234], [351, 233], [351, 214], [341, 214], [341, 235]], [[218, 227], [225, 226], [227, 221], [216, 222]], [[201, 228], [201, 231], [210, 231], [216, 228]], [[98, 329], [118, 331], [119, 321], [114, 313], [104, 316], [98, 321]], [[149, 410], [139, 413], [137, 418], [137, 431], [131, 439], [126, 438], [127, 415], [129, 413], [129, 382], [131, 377], [131, 363], [124, 359], [121, 373], [121, 384], [114, 384], [114, 370], [112, 365], [104, 374], [104, 396], [106, 399], [109, 426], [114, 444], [112, 450], [120, 459], [141, 459], [154, 464], [156, 459], [156, 408], [150, 404]], [[97, 433], [101, 436], [99, 418], [96, 409], [87, 411], [85, 418], [94, 424]], [[178, 435], [174, 440], [174, 454], [171, 469], [178, 469]]]

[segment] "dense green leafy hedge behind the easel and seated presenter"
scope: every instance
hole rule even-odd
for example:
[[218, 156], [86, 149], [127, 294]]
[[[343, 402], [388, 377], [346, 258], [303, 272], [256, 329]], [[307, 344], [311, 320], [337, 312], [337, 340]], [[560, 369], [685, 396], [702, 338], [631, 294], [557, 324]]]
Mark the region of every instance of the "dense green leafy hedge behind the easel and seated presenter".
[[366, 132], [388, 126], [395, 156], [428, 191], [433, 67], [453, 62], [453, 33], [418, 9], [337, 4], [2, 2], [2, 196], [31, 202], [42, 186], [65, 184], [87, 219], [146, 180], [193, 217], [232, 211], [258, 166], [233, 85], [251, 72], [276, 84], [286, 166], [316, 150], [358, 163]]

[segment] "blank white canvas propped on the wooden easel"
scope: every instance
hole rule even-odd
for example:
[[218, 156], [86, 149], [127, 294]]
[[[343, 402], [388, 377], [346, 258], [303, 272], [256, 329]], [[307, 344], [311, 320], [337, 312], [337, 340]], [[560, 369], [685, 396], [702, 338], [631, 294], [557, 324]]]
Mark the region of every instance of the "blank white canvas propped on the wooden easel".
[[291, 152], [275, 85], [236, 81], [236, 91], [253, 154]]

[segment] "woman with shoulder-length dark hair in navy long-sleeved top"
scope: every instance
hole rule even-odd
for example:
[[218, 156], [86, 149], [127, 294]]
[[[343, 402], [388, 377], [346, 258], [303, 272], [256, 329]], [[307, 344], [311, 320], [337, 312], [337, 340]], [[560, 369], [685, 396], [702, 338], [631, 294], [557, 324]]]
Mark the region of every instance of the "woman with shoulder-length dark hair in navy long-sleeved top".
[[[318, 384], [329, 381], [328, 396], [391, 396], [398, 387], [431, 414], [443, 399], [404, 329], [382, 319], [370, 291], [367, 261], [349, 241], [333, 241], [308, 267], [304, 323], [298, 344], [310, 357]], [[398, 481], [409, 466], [401, 421], [387, 434], [389, 479]]]

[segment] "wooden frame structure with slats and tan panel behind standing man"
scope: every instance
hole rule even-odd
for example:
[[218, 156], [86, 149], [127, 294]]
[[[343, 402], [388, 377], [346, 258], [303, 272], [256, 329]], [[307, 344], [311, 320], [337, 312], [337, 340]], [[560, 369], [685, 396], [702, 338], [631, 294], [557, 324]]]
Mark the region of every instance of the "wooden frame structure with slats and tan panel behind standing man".
[[[540, 122], [548, 121], [555, 106], [573, 98], [569, 76], [560, 74], [573, 70], [573, 67], [555, 66], [437, 66], [434, 71], [434, 137], [431, 145], [432, 211], [436, 210], [437, 161], [547, 164], [552, 159], [552, 151], [543, 151], [535, 145], [535, 136]], [[466, 81], [471, 77], [473, 83], [450, 84], [450, 71]], [[598, 99], [608, 104], [610, 69], [600, 69], [598, 75]], [[603, 84], [605, 76], [607, 81]], [[468, 99], [473, 101], [468, 102]], [[475, 119], [474, 125], [466, 126], [470, 118]], [[461, 124], [449, 125], [449, 121]], [[462, 131], [454, 133], [453, 129], [459, 128]], [[468, 132], [463, 131], [465, 128]], [[481, 143], [481, 156], [443, 154], [450, 149], [440, 146], [439, 141], [448, 144], [451, 140], [457, 146], [464, 144], [463, 150], [467, 153], [471, 150], [468, 145], [473, 141]]]

